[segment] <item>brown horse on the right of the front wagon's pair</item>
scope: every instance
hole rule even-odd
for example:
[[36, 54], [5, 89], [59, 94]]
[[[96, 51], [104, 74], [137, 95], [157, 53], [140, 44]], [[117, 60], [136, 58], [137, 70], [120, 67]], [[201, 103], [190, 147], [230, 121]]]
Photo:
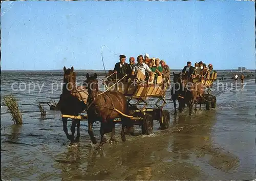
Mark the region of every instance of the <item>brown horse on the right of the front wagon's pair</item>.
[[122, 131], [121, 138], [122, 141], [125, 141], [124, 128], [126, 126], [127, 118], [120, 115], [119, 112], [123, 114], [129, 114], [127, 109], [127, 102], [125, 96], [116, 91], [107, 91], [101, 92], [99, 90], [99, 85], [97, 81], [97, 74], [93, 76], [89, 74], [86, 75], [87, 84], [88, 84], [88, 133], [91, 137], [91, 140], [94, 144], [97, 143], [92, 130], [92, 125], [95, 120], [100, 120], [100, 144], [98, 148], [103, 146], [103, 136], [104, 133], [112, 132], [111, 141], [115, 141], [115, 118], [121, 118], [122, 120]]

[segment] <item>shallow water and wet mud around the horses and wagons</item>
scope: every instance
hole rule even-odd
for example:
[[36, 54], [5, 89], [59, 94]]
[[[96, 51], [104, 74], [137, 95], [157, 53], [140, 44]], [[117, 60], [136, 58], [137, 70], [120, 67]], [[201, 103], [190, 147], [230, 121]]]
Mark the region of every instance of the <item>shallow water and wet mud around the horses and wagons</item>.
[[[254, 74], [254, 73], [253, 73]], [[97, 145], [90, 141], [87, 122], [81, 122], [81, 138], [77, 147], [68, 147], [62, 130], [60, 111], [47, 109], [42, 118], [36, 105], [50, 98], [58, 101], [61, 86], [51, 93], [53, 82], [61, 83], [62, 72], [2, 72], [1, 96], [12, 93], [23, 109], [24, 124], [13, 126], [10, 113], [1, 109], [2, 178], [9, 180], [245, 180], [254, 179], [255, 149], [255, 78], [246, 78], [244, 89], [231, 90], [232, 73], [220, 72], [220, 82], [228, 85], [213, 91], [217, 108], [198, 110], [188, 116], [186, 109], [171, 115], [170, 126], [160, 130], [154, 122], [151, 135], [142, 135], [135, 126], [135, 135], [126, 135], [121, 142], [120, 125], [116, 125], [118, 143]], [[79, 72], [82, 82], [85, 73]], [[101, 77], [102, 78], [102, 77]], [[45, 82], [30, 93], [12, 91], [14, 82]], [[216, 86], [217, 82], [215, 82]], [[14, 86], [17, 88], [18, 86]], [[53, 86], [56, 88], [56, 85]], [[22, 86], [23, 88], [23, 86]], [[166, 109], [173, 112], [167, 93]], [[69, 129], [70, 129], [69, 122]], [[99, 141], [99, 123], [94, 133]], [[110, 134], [106, 134], [110, 138]], [[15, 143], [23, 144], [15, 144]], [[26, 145], [25, 145], [26, 144]]]

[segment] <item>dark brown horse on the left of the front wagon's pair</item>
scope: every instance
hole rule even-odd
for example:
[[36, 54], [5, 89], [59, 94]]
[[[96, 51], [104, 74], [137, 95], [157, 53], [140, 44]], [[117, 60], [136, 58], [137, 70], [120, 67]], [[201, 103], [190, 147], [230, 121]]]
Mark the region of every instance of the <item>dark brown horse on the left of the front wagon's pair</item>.
[[[74, 67], [71, 69], [66, 69], [63, 67], [64, 77], [63, 77], [63, 87], [62, 94], [58, 102], [60, 111], [62, 115], [72, 115], [78, 116], [84, 109], [87, 108], [88, 90], [85, 86], [76, 87], [76, 73], [74, 72]], [[66, 133], [67, 138], [71, 141], [71, 145], [75, 142], [79, 142], [80, 138], [80, 120], [74, 119], [72, 121], [71, 133], [68, 133], [67, 128], [68, 118], [62, 117], [63, 131]], [[77, 125], [77, 136], [74, 140], [75, 126]]]

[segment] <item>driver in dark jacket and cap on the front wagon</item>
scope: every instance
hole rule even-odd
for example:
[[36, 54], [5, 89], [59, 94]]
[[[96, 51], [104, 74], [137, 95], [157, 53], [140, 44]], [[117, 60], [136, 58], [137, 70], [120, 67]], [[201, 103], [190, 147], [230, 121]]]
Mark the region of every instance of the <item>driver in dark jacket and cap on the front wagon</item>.
[[[131, 75], [132, 69], [131, 66], [125, 62], [125, 55], [120, 55], [119, 60], [120, 62], [115, 64], [114, 72], [117, 73], [117, 79], [121, 79], [125, 74]], [[129, 76], [122, 79], [123, 81], [127, 81]]]

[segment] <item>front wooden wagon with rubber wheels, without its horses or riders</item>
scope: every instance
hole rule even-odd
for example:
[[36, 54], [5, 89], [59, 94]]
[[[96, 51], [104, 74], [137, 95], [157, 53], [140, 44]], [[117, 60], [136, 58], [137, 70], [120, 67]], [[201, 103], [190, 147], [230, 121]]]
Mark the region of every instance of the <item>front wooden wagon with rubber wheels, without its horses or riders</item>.
[[132, 115], [130, 122], [141, 125], [143, 134], [152, 133], [153, 120], [159, 121], [161, 129], [169, 127], [169, 111], [163, 109], [166, 104], [166, 84], [107, 81], [106, 87], [124, 94], [129, 105], [129, 115]]

